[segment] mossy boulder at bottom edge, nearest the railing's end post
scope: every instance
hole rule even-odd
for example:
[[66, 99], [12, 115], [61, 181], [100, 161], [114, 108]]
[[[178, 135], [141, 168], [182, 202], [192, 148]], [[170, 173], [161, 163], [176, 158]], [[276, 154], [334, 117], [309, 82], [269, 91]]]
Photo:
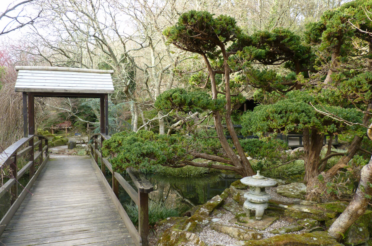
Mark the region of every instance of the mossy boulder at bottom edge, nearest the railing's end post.
[[176, 229], [167, 229], [158, 240], [157, 246], [182, 246], [195, 245], [207, 246], [198, 235], [192, 232], [184, 232]]

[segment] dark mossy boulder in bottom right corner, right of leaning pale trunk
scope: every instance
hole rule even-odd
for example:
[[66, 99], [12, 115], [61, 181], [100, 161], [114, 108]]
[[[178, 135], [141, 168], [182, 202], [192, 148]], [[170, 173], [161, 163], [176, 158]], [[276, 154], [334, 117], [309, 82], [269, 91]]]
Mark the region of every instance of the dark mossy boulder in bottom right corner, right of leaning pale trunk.
[[369, 228], [371, 227], [372, 211], [367, 210], [357, 219], [345, 233], [343, 243], [345, 245], [359, 245], [369, 240]]

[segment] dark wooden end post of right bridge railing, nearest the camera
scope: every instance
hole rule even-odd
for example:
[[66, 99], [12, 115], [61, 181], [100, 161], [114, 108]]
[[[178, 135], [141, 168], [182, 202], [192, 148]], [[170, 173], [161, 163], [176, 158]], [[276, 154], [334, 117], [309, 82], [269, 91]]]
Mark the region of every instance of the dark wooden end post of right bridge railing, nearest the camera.
[[142, 238], [142, 246], [148, 246], [148, 193], [138, 191], [138, 233]]

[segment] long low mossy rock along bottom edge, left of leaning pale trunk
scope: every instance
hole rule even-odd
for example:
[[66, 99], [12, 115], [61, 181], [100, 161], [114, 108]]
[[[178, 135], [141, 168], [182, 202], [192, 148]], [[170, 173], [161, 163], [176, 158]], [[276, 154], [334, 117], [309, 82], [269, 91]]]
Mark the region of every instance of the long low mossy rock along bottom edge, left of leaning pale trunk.
[[262, 240], [249, 240], [244, 246], [342, 246], [327, 232], [283, 234]]

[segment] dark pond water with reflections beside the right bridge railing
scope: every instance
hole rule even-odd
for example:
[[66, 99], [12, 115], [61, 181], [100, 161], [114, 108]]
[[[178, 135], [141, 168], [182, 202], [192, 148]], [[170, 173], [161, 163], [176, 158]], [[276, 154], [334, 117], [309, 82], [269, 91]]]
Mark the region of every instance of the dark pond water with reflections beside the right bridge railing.
[[[134, 186], [129, 177], [125, 176], [124, 178]], [[149, 194], [151, 201], [180, 210], [187, 210], [195, 205], [206, 203], [237, 180], [235, 178], [221, 178], [220, 174], [202, 177], [166, 177], [159, 174], [148, 174], [147, 178], [154, 185], [154, 191]], [[119, 200], [122, 204], [133, 204], [121, 186], [119, 186]]]

